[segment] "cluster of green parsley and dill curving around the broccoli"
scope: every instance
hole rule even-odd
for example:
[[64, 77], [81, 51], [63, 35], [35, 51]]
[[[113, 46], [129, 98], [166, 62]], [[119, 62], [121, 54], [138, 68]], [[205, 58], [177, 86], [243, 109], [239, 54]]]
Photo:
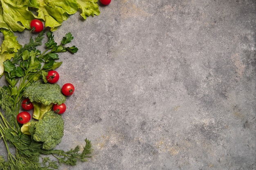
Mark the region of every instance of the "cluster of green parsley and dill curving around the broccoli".
[[[81, 152], [79, 146], [69, 151], [44, 150], [42, 143], [20, 132], [21, 126], [16, 117], [25, 89], [38, 81], [47, 82], [47, 71], [62, 64], [56, 61], [59, 59], [58, 53], [76, 53], [78, 50], [75, 46], [66, 46], [73, 39], [71, 33], [67, 33], [58, 45], [52, 32], [47, 32], [46, 49], [41, 53], [37, 47], [42, 45], [44, 35], [41, 32], [36, 38], [31, 38], [13, 58], [4, 62], [4, 72], [0, 78], [5, 77], [7, 85], [0, 87], [0, 108], [4, 111], [0, 112], [0, 139], [6, 146], [7, 155], [0, 156], [2, 170], [51, 170], [58, 169], [61, 164], [74, 166], [77, 161], [86, 161], [92, 152], [88, 139], [85, 139]], [[14, 153], [10, 147], [14, 148]]]

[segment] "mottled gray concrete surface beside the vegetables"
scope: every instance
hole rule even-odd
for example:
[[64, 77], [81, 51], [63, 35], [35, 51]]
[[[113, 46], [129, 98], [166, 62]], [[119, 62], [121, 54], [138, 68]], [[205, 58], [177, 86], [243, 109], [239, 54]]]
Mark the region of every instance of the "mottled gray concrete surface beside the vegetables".
[[58, 68], [76, 91], [57, 148], [88, 138], [94, 149], [61, 170], [255, 170], [256, 1], [112, 0], [100, 11], [54, 32], [79, 48]]

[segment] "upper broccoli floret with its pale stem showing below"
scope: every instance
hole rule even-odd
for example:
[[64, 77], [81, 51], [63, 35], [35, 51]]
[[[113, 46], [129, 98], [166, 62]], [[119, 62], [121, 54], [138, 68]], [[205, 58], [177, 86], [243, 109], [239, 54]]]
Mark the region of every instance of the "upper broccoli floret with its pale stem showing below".
[[33, 118], [38, 120], [42, 119], [54, 104], [63, 104], [66, 101], [66, 96], [61, 93], [61, 87], [58, 84], [43, 84], [39, 81], [27, 87], [23, 97], [29, 98], [33, 103]]

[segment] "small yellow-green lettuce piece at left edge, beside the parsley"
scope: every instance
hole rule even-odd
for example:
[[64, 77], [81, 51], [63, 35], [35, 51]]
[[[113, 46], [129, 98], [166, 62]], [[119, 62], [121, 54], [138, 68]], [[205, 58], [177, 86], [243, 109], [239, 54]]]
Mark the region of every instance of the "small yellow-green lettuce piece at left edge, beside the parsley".
[[4, 40], [0, 47], [0, 74], [4, 72], [3, 62], [5, 60], [10, 60], [14, 57], [15, 53], [22, 47], [18, 41], [16, 40], [16, 36], [14, 36], [13, 32], [10, 30], [1, 29], [0, 30], [4, 35]]

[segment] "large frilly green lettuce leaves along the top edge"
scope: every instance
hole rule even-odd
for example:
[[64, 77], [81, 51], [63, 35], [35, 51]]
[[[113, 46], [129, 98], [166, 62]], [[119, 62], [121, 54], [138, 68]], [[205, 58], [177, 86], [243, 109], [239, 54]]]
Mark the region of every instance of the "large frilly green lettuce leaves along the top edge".
[[30, 29], [33, 19], [43, 20], [45, 27], [55, 31], [77, 11], [84, 20], [100, 14], [97, 0], [1, 0], [0, 4], [0, 28], [20, 32]]

